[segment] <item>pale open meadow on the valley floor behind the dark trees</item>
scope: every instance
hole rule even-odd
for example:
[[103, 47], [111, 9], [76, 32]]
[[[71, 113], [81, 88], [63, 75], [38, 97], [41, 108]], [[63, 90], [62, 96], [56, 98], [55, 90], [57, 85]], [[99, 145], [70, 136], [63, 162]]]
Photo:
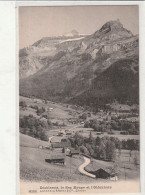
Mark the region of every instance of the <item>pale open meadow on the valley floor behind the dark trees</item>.
[[[88, 137], [90, 134], [90, 131], [92, 131], [93, 137], [102, 137], [102, 136], [110, 136], [110, 137], [118, 137], [120, 140], [127, 140], [127, 139], [137, 139], [139, 140], [139, 135], [120, 135], [119, 131], [112, 131], [114, 134], [108, 134], [107, 132], [104, 132], [101, 135], [98, 135], [97, 132], [93, 131], [92, 128], [84, 128], [84, 124], [81, 124], [77, 121], [80, 115], [82, 115], [84, 112], [87, 113], [87, 111], [84, 111], [83, 108], [77, 107], [75, 109], [74, 106], [62, 104], [62, 103], [54, 103], [51, 101], [47, 101], [45, 103], [43, 100], [40, 99], [31, 99], [20, 96], [20, 101], [25, 101], [27, 104], [26, 109], [20, 110], [20, 118], [23, 116], [27, 116], [29, 114], [32, 114], [36, 118], [39, 118], [40, 120], [46, 121], [45, 118], [38, 116], [35, 109], [32, 109], [31, 106], [37, 105], [38, 107], [44, 107], [46, 110], [46, 113], [49, 115], [49, 119], [54, 125], [52, 129], [49, 129], [47, 131], [48, 137], [51, 137], [53, 135], [57, 135], [59, 130], [69, 130], [72, 132], [72, 134], [78, 132], [81, 133], [81, 135]], [[51, 110], [52, 109], [52, 110]], [[101, 117], [101, 114], [94, 115], [92, 112], [91, 117], [88, 117], [89, 119], [98, 119]], [[72, 120], [73, 119], [73, 120]], [[75, 122], [74, 122], [75, 121]]]

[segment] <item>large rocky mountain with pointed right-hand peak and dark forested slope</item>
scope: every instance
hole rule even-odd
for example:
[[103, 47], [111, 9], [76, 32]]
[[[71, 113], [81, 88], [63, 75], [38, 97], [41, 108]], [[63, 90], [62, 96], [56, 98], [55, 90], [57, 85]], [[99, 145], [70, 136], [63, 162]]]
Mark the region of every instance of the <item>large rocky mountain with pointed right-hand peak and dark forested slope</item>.
[[138, 41], [119, 20], [92, 35], [61, 41], [53, 55], [39, 53], [43, 66], [20, 79], [20, 94], [89, 106], [114, 99], [138, 103]]

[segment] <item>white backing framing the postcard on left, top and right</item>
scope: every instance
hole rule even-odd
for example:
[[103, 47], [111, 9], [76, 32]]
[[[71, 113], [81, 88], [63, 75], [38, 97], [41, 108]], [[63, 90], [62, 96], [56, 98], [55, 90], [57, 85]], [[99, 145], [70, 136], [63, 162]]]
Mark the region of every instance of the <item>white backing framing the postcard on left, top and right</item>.
[[[139, 1], [21, 1], [0, 2], [0, 194], [19, 194], [18, 172], [18, 6], [139, 5], [140, 17], [140, 140], [141, 193], [145, 194], [145, 2]], [[16, 7], [15, 7], [16, 6]], [[17, 81], [17, 82], [16, 82]], [[17, 120], [16, 120], [17, 118]], [[16, 152], [17, 151], [17, 152]], [[17, 160], [16, 160], [17, 153]], [[17, 185], [17, 188], [16, 188]]]

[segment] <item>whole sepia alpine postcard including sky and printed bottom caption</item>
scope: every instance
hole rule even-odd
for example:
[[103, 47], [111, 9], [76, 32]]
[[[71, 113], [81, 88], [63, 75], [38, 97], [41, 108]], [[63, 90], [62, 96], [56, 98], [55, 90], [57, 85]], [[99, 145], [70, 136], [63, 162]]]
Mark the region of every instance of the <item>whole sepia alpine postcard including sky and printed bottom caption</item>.
[[19, 6], [20, 194], [139, 193], [139, 6]]

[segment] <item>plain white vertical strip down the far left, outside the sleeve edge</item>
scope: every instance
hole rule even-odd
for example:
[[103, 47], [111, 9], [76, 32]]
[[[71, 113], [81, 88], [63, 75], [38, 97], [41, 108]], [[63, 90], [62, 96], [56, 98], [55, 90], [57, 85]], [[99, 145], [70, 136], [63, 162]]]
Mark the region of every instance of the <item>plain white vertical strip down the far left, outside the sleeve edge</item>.
[[15, 2], [0, 1], [0, 194], [16, 193]]

